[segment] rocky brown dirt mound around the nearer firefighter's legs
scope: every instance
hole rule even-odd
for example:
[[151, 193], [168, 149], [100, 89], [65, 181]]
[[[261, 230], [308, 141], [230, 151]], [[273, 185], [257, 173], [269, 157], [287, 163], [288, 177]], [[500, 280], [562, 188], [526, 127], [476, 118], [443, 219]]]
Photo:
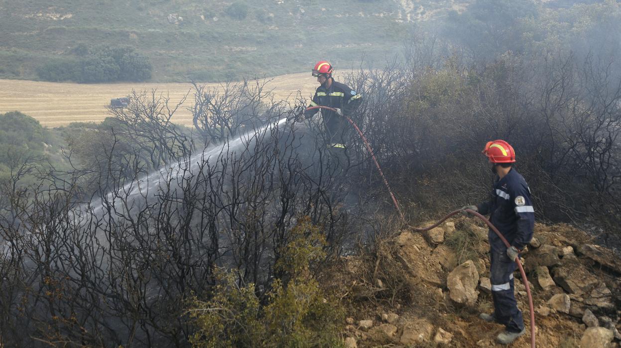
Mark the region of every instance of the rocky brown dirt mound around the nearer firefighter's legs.
[[[438, 243], [438, 235], [443, 235], [442, 242]], [[619, 255], [593, 245], [591, 236], [571, 226], [537, 224], [535, 238], [524, 255], [527, 268], [540, 267], [539, 272], [546, 268], [553, 278], [543, 288], [537, 272], [527, 270], [537, 347], [585, 347], [581, 340], [587, 326], [582, 317], [587, 309], [599, 318], [599, 326], [621, 329]], [[402, 231], [382, 245], [368, 260], [348, 257], [336, 271], [338, 277], [333, 277], [334, 287], [347, 291], [340, 296], [351, 298], [343, 332], [350, 346], [355, 341], [357, 347], [504, 347], [495, 341], [504, 327], [478, 318], [479, 313], [493, 310], [489, 288], [483, 286], [489, 277], [486, 229], [461, 218], [435, 229], [433, 237]], [[479, 274], [478, 286], [474, 283], [473, 288], [478, 295], [474, 295], [476, 303], [460, 304], [453, 299], [447, 278], [466, 263]], [[519, 272], [515, 275], [527, 334], [509, 347], [528, 347], [528, 299]], [[555, 295], [566, 296], [571, 305], [560, 308], [548, 303]], [[365, 327], [369, 323], [361, 322], [365, 320], [373, 321], [372, 326]], [[443, 336], [443, 331], [448, 335]], [[446, 336], [450, 336], [448, 342], [440, 343]], [[619, 347], [620, 339], [617, 332], [617, 339], [606, 347]]]

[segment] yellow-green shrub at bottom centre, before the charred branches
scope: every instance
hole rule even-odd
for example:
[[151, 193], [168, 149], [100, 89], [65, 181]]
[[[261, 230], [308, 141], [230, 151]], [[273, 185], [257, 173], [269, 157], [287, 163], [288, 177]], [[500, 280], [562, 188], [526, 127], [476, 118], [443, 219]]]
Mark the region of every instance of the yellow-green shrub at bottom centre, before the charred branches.
[[220, 275], [211, 300], [191, 301], [189, 317], [196, 327], [194, 347], [339, 347], [337, 323], [343, 310], [312, 276], [325, 260], [325, 239], [308, 218], [291, 231], [291, 242], [274, 266], [279, 277], [265, 304], [255, 285], [238, 286], [232, 273]]

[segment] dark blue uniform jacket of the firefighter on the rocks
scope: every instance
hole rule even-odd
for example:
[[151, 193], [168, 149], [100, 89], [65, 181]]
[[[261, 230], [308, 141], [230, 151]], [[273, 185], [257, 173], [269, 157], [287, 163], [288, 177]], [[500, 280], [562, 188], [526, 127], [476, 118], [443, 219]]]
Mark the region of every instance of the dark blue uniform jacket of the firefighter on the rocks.
[[[494, 183], [489, 202], [479, 204], [479, 213], [490, 214], [489, 221], [503, 234], [510, 245], [524, 249], [533, 237], [535, 210], [530, 200], [530, 188], [515, 168]], [[491, 229], [488, 232], [492, 250], [505, 252], [507, 247]]]

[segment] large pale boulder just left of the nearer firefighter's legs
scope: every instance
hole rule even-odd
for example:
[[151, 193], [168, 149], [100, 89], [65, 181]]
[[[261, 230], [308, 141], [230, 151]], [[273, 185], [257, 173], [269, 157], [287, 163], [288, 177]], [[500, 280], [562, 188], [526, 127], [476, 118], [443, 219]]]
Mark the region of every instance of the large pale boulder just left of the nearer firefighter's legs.
[[476, 286], [479, 284], [479, 272], [472, 260], [455, 267], [446, 278], [451, 300], [460, 305], [474, 306], [479, 296]]

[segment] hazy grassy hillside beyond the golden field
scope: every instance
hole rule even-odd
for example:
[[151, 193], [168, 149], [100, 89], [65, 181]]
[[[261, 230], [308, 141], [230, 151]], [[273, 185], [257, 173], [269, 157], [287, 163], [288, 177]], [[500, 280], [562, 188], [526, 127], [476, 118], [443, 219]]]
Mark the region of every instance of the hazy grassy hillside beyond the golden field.
[[221, 81], [341, 68], [389, 57], [410, 24], [461, 8], [412, 0], [0, 1], [0, 78], [37, 80], [37, 67], [84, 47], [129, 45], [152, 81]]

